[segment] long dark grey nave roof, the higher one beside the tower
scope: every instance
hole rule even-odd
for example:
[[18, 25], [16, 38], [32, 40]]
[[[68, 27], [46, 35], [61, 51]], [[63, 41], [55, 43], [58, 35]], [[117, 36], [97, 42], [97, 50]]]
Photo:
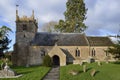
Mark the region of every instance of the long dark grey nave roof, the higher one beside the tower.
[[86, 37], [80, 33], [36, 33], [31, 45], [37, 46], [88, 46]]

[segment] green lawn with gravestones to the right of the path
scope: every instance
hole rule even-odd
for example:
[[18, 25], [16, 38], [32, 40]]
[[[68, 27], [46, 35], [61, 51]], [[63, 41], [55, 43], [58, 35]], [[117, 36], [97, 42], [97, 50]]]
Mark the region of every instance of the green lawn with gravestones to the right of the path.
[[[120, 64], [102, 63], [98, 66], [97, 63], [87, 64], [87, 72], [83, 72], [80, 65], [67, 65], [60, 68], [60, 80], [120, 80]], [[90, 75], [92, 69], [96, 69], [97, 73], [94, 77]], [[78, 75], [71, 75], [70, 70], [77, 70]]]

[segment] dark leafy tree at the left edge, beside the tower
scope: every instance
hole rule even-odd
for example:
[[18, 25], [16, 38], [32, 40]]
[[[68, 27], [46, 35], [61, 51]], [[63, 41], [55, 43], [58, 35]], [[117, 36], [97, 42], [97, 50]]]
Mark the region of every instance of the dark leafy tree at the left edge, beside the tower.
[[8, 45], [11, 42], [8, 38], [8, 33], [12, 31], [10, 28], [6, 26], [2, 26], [0, 28], [0, 57], [4, 56], [4, 51], [9, 49]]

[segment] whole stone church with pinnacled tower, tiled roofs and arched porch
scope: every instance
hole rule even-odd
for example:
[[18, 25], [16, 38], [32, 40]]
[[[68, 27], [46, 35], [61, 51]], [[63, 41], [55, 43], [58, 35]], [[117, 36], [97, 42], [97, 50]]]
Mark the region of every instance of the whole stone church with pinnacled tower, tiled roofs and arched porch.
[[32, 16], [19, 17], [16, 10], [16, 42], [12, 62], [14, 65], [41, 65], [45, 55], [53, 64], [65, 66], [68, 63], [80, 64], [89, 58], [95, 61], [113, 60], [105, 50], [113, 43], [108, 37], [86, 36], [84, 33], [37, 32], [38, 22]]

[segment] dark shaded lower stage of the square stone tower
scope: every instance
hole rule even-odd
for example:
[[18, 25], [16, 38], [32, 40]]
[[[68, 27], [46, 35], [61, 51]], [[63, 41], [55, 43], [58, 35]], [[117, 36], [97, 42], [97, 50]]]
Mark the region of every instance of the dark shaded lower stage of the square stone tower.
[[26, 43], [16, 43], [12, 54], [13, 65], [24, 66], [27, 64], [28, 45]]

